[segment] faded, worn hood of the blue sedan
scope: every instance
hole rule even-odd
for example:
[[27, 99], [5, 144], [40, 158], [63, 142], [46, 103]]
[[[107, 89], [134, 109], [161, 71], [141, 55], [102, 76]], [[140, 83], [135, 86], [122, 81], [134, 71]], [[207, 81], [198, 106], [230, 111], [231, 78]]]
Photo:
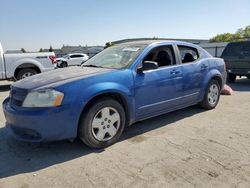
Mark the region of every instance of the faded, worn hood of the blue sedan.
[[115, 71], [115, 69], [94, 67], [61, 68], [25, 78], [15, 82], [12, 86], [32, 90], [58, 82], [64, 84], [71, 80], [97, 76], [112, 71]]

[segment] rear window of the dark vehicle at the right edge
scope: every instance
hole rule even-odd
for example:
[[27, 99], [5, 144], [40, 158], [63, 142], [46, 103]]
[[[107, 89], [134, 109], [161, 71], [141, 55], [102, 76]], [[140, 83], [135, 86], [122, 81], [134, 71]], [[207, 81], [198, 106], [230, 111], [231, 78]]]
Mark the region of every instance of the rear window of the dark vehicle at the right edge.
[[221, 56], [250, 56], [250, 42], [229, 43]]

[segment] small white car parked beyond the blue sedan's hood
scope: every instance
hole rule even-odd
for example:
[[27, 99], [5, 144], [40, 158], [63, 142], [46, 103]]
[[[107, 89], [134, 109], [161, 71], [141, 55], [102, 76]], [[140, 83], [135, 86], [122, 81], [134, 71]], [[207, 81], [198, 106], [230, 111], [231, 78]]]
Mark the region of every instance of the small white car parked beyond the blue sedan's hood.
[[57, 58], [56, 62], [58, 67], [68, 67], [73, 65], [81, 65], [88, 59], [89, 56], [87, 54], [73, 53], [65, 55], [62, 58]]

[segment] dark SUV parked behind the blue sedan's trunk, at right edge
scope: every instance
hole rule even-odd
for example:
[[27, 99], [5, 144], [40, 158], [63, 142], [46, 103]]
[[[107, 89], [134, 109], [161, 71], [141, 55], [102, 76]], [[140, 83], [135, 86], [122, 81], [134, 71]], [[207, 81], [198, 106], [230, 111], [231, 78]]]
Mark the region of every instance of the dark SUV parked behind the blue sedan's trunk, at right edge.
[[234, 82], [236, 76], [250, 79], [250, 41], [229, 43], [221, 57], [226, 63], [229, 82]]

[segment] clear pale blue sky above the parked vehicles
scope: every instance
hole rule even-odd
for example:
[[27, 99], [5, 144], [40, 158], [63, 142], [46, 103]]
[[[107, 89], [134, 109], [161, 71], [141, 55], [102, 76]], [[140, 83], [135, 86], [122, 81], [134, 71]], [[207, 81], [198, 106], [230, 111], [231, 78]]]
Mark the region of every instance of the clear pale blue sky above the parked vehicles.
[[136, 37], [209, 39], [250, 25], [250, 0], [0, 0], [5, 50]]

